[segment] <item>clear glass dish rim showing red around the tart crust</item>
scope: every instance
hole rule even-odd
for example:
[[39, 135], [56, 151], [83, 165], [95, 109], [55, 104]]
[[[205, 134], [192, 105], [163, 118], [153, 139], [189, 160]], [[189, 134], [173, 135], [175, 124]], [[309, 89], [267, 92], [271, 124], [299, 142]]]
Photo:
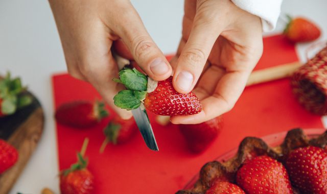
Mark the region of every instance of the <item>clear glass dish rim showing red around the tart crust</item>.
[[[315, 138], [322, 133], [324, 133], [325, 129], [305, 129], [303, 130], [304, 133], [308, 136], [309, 139]], [[286, 134], [288, 131], [283, 131], [279, 133], [270, 134], [267, 136], [262, 137], [268, 146], [270, 147], [277, 147], [282, 144], [284, 141]], [[229, 152], [226, 152], [225, 154], [222, 154], [221, 156], [218, 156], [215, 160], [219, 162], [224, 162], [229, 160], [230, 158], [234, 157], [238, 151], [238, 147], [235, 149], [230, 150]], [[199, 179], [199, 173], [196, 174], [186, 185], [183, 189], [191, 189], [193, 188], [193, 185], [196, 183], [196, 181]]]

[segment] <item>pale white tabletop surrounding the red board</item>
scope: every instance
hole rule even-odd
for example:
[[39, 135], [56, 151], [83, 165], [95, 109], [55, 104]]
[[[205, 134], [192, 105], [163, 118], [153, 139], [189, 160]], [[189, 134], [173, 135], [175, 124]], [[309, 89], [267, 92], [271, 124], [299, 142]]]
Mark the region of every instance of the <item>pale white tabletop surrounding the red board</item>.
[[[154, 41], [164, 53], [174, 53], [180, 38], [182, 1], [132, 1], [143, 18]], [[326, 39], [327, 1], [285, 0], [282, 13], [303, 15], [322, 28]], [[281, 31], [282, 23], [277, 25]], [[274, 33], [274, 32], [272, 32]], [[300, 59], [308, 44], [297, 46]], [[0, 1], [0, 73], [10, 70], [41, 101], [45, 116], [45, 130], [40, 143], [10, 193], [40, 193], [47, 186], [59, 193], [56, 133], [53, 119], [53, 99], [50, 76], [65, 71], [65, 61], [59, 36], [48, 1]], [[74, 138], [74, 137], [72, 137]]]

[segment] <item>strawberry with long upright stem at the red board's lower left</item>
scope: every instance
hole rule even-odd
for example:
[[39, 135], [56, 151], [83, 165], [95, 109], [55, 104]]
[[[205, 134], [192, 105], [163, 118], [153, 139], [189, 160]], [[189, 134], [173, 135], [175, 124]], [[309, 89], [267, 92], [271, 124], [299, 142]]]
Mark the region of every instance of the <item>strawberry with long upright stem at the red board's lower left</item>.
[[83, 158], [88, 139], [83, 143], [81, 153], [77, 153], [77, 163], [60, 173], [61, 194], [90, 194], [94, 189], [94, 176], [88, 171], [87, 159]]

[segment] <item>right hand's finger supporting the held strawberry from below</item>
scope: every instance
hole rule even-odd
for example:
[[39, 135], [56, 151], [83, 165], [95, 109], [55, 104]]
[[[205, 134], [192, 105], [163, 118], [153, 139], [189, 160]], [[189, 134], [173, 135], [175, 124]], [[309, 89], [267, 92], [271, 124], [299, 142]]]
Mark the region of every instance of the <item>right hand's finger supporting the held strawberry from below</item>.
[[248, 71], [227, 72], [220, 79], [215, 92], [201, 100], [202, 111], [199, 114], [174, 116], [171, 118], [172, 123], [197, 124], [228, 112], [239, 99], [248, 77]]

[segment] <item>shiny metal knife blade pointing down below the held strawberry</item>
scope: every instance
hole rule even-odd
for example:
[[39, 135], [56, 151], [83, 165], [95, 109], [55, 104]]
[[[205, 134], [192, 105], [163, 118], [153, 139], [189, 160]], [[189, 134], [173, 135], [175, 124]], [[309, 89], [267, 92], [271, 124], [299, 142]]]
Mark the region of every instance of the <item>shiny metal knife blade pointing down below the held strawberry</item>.
[[137, 124], [137, 127], [139, 131], [142, 134], [142, 137], [147, 144], [148, 148], [154, 151], [158, 151], [157, 142], [155, 140], [152, 127], [150, 124], [150, 120], [147, 114], [147, 111], [145, 110], [143, 104], [139, 106], [137, 109], [132, 110], [135, 122]]

